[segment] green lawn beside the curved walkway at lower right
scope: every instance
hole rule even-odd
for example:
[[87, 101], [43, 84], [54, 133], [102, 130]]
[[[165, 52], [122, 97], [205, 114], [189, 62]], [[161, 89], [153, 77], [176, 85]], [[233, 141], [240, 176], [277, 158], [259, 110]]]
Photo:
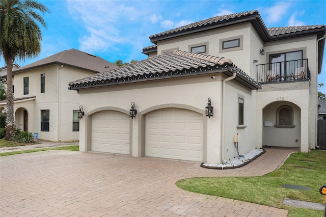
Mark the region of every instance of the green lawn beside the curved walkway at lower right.
[[[177, 186], [206, 195], [248, 201], [289, 210], [289, 216], [323, 216], [324, 211], [283, 205], [283, 199], [324, 203], [319, 187], [326, 184], [326, 151], [293, 153], [275, 172], [259, 177], [209, 177], [178, 181]], [[281, 184], [310, 187], [312, 191], [283, 188]]]

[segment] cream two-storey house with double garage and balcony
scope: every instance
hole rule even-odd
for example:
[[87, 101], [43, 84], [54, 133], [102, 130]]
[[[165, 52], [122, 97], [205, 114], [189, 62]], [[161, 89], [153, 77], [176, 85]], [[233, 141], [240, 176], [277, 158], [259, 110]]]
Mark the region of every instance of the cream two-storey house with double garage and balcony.
[[150, 36], [148, 59], [69, 84], [85, 112], [79, 150], [219, 164], [237, 155], [238, 134], [240, 154], [308, 152], [325, 32], [266, 28], [250, 11]]

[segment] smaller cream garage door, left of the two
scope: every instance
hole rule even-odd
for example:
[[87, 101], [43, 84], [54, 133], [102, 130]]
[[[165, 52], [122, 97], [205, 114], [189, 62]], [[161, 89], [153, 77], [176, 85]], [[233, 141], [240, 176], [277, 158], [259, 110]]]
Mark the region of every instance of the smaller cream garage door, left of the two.
[[116, 111], [92, 115], [92, 151], [129, 154], [128, 115]]

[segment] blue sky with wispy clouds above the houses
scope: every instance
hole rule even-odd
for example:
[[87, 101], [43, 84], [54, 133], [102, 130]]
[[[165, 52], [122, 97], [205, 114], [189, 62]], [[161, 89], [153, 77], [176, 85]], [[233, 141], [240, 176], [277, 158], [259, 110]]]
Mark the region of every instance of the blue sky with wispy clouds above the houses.
[[[143, 60], [149, 36], [214, 16], [258, 10], [267, 27], [326, 24], [326, 1], [39, 1], [43, 17], [42, 50], [25, 66], [75, 48], [107, 61]], [[325, 49], [326, 50], [326, 49]], [[233, 60], [236, 64], [236, 60]], [[3, 59], [0, 66], [4, 66]], [[319, 83], [326, 93], [326, 52]]]

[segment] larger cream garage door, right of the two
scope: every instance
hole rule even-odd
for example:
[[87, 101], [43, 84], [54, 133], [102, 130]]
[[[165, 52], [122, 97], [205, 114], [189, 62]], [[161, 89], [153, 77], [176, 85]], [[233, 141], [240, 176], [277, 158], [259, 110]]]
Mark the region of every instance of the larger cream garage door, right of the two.
[[145, 155], [202, 161], [202, 114], [179, 108], [166, 108], [148, 113]]

